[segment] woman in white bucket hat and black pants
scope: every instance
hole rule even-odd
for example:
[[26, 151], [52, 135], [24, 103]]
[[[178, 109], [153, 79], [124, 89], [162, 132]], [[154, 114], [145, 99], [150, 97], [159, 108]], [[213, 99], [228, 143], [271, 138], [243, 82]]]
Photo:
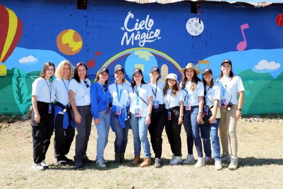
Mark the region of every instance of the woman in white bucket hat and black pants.
[[170, 160], [171, 165], [177, 165], [183, 161], [181, 152], [181, 126], [183, 122], [184, 100], [182, 92], [179, 91], [177, 84], [177, 75], [168, 74], [165, 78], [165, 87], [163, 90], [164, 104], [167, 112], [167, 121], [165, 131], [173, 153]]

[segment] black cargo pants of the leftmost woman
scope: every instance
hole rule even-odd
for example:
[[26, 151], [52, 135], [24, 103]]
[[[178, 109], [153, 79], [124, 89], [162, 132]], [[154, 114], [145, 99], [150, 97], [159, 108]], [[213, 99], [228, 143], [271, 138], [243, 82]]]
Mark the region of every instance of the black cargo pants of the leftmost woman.
[[33, 162], [41, 163], [45, 160], [45, 154], [50, 145], [50, 138], [54, 126], [54, 109], [48, 113], [49, 103], [37, 101], [37, 110], [40, 115], [40, 122], [34, 121], [34, 110], [32, 110], [32, 144]]

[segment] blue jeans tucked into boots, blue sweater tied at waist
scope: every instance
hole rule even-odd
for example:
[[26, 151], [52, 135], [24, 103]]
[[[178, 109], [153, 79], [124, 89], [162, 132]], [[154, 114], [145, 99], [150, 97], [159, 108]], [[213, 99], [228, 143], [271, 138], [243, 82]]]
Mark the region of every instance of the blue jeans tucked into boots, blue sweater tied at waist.
[[126, 146], [128, 143], [128, 132], [130, 128], [130, 122], [129, 120], [126, 121], [126, 127], [122, 128], [119, 120], [118, 120], [118, 115], [116, 115], [116, 112], [112, 112], [111, 114], [111, 119], [112, 119], [112, 125], [115, 131], [115, 141], [114, 141], [114, 151], [115, 153], [125, 153], [126, 151]]

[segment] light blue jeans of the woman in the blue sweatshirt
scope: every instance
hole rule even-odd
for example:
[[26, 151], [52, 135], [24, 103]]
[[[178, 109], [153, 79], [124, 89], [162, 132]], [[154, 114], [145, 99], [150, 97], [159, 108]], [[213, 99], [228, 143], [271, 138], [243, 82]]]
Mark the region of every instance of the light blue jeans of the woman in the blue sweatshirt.
[[96, 145], [96, 156], [97, 159], [103, 159], [104, 149], [108, 143], [108, 134], [110, 129], [110, 118], [109, 114], [106, 114], [106, 110], [98, 113], [100, 122], [95, 124], [97, 129], [97, 145]]

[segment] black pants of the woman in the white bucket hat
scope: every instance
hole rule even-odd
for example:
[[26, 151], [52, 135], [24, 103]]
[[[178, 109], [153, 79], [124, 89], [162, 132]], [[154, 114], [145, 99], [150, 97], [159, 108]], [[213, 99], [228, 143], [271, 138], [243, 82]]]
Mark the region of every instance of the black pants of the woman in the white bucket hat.
[[[166, 110], [166, 113], [168, 110]], [[182, 124], [178, 125], [178, 119], [180, 116], [180, 107], [175, 106], [170, 108], [171, 112], [171, 120], [167, 119], [166, 116], [166, 124], [165, 124], [165, 131], [168, 137], [168, 141], [171, 147], [171, 151], [175, 156], [182, 156], [182, 143], [181, 143], [181, 126]]]

